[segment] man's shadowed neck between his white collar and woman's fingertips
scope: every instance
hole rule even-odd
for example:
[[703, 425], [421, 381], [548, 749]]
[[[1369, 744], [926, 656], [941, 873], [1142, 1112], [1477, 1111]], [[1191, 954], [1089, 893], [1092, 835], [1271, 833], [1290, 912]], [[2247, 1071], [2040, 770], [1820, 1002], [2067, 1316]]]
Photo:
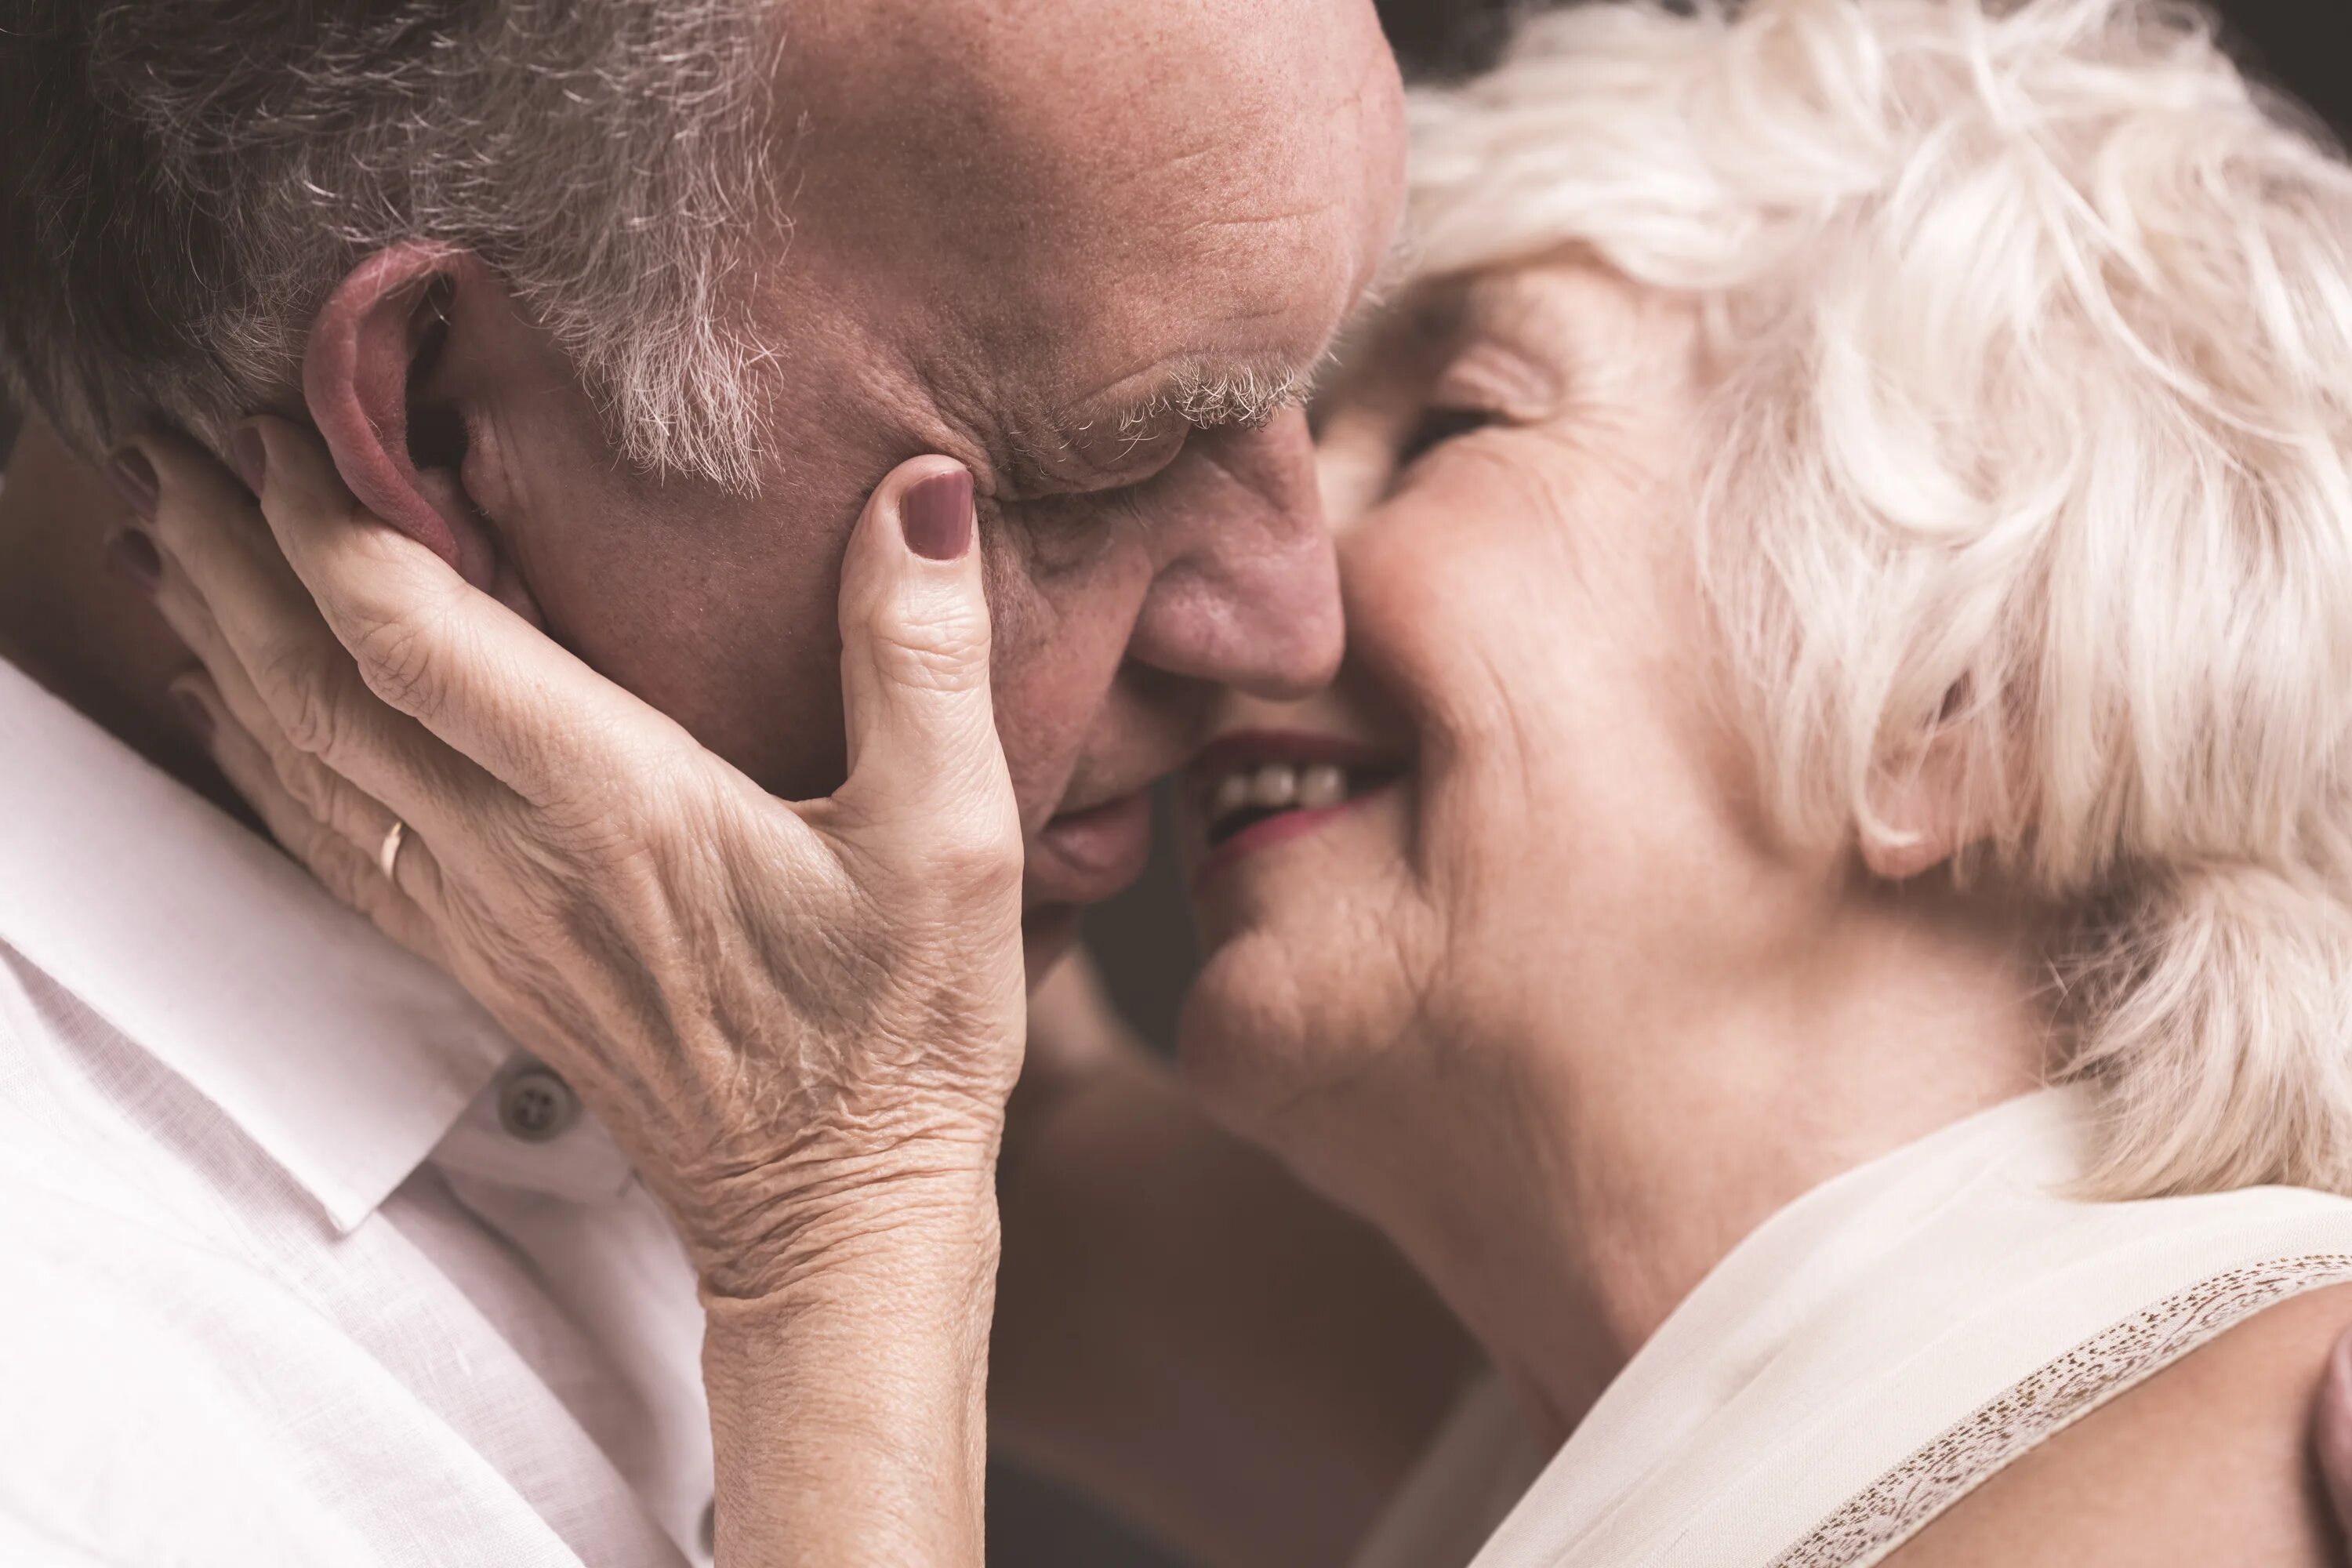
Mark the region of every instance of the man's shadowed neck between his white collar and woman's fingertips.
[[108, 567], [129, 508], [40, 421], [0, 489], [0, 658], [235, 816], [242, 806], [191, 733], [169, 682], [195, 661], [148, 597]]

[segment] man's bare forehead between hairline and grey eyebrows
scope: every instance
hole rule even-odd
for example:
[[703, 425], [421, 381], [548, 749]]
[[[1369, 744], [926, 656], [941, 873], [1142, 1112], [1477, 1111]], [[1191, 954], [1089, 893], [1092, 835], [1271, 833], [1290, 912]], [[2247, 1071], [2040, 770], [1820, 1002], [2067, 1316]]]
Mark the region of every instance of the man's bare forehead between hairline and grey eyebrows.
[[1089, 0], [1084, 26], [1068, 0], [807, 7], [807, 310], [903, 353], [910, 395], [1044, 447], [1303, 395], [1385, 244], [1395, 150], [1350, 120], [1329, 2]]

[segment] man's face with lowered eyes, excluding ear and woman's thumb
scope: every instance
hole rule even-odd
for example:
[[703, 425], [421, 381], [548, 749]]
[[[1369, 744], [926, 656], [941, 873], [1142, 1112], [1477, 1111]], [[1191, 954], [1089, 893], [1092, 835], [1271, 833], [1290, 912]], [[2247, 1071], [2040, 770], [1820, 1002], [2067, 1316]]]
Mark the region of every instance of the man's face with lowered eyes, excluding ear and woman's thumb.
[[517, 428], [508, 548], [550, 632], [811, 797], [844, 773], [863, 496], [908, 456], [964, 461], [1051, 947], [1141, 870], [1138, 792], [1207, 698], [1301, 696], [1338, 661], [1303, 414], [1230, 416], [1312, 371], [1383, 259], [1395, 66], [1367, 0], [795, 0], [779, 85], [762, 494], [616, 475], [581, 421]]

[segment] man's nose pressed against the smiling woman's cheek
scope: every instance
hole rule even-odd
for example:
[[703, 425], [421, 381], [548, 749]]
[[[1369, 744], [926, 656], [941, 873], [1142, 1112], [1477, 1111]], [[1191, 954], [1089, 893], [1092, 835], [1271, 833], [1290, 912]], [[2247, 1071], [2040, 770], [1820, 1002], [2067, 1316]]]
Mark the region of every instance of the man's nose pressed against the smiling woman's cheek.
[[1312, 696], [1338, 670], [1341, 607], [1305, 414], [1195, 440], [1204, 468], [1152, 520], [1129, 656], [1270, 701]]

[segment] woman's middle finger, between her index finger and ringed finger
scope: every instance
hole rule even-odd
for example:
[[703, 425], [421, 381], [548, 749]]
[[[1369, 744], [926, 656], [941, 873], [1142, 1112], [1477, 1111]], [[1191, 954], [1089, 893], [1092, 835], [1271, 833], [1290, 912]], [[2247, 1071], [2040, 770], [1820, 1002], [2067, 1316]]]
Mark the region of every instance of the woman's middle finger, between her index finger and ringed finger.
[[[139, 447], [160, 489], [155, 602], [240, 726], [273, 750], [318, 759], [320, 790], [343, 778], [435, 827], [477, 809], [489, 780], [365, 686], [245, 489], [188, 442], [141, 437]], [[282, 780], [308, 792], [292, 764]]]

